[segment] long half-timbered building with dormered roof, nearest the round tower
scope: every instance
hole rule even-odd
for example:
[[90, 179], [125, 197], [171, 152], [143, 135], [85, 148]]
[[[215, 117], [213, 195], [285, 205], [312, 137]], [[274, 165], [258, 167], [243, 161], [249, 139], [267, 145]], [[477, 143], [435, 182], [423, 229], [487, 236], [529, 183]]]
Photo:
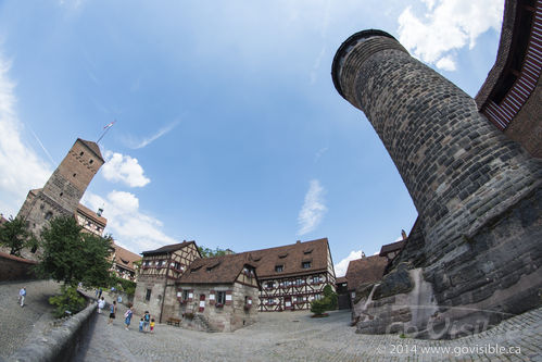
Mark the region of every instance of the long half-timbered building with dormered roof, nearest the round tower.
[[297, 241], [277, 248], [248, 252], [262, 284], [260, 311], [308, 310], [324, 297], [324, 287], [335, 289], [335, 270], [327, 238]]

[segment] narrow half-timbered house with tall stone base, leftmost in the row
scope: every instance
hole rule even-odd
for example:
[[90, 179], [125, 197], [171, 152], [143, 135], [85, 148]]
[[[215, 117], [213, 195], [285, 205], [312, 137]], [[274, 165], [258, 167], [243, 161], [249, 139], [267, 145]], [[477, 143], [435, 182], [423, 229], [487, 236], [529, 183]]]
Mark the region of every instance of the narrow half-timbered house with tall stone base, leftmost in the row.
[[136, 313], [149, 311], [161, 323], [162, 315], [173, 313], [175, 282], [201, 254], [194, 241], [182, 241], [143, 251], [142, 255], [134, 310]]

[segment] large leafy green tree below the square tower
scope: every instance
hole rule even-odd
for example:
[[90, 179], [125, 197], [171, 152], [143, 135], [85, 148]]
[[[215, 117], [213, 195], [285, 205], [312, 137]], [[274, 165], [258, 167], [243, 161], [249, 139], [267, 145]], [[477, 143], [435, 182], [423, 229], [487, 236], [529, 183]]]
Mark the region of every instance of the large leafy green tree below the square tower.
[[110, 284], [111, 236], [100, 237], [81, 230], [72, 216], [52, 220], [41, 232], [43, 254], [37, 265], [38, 274], [66, 286]]

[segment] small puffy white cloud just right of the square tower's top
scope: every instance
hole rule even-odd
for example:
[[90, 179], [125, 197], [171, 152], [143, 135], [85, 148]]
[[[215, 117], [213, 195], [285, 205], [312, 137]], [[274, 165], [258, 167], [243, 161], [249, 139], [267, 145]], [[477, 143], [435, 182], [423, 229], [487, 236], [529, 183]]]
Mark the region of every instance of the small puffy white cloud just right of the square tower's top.
[[130, 187], [143, 187], [151, 182], [143, 175], [137, 159], [112, 151], [105, 151], [102, 175], [106, 180], [123, 182]]

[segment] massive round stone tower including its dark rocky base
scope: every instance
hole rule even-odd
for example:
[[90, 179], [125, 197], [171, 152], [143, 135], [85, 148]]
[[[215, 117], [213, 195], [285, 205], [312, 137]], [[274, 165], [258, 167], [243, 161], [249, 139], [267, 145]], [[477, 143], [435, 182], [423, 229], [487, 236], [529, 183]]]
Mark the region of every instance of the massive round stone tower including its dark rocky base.
[[[385, 32], [346, 39], [332, 79], [366, 114], [413, 198], [425, 239], [417, 266], [437, 302], [512, 311], [521, 296], [530, 298], [524, 310], [534, 307], [542, 286], [542, 252], [533, 241], [542, 239], [541, 163]], [[529, 216], [518, 214], [528, 210]], [[516, 276], [505, 285], [500, 278], [508, 273]], [[511, 286], [524, 277], [529, 282]], [[501, 299], [491, 301], [496, 290]]]

